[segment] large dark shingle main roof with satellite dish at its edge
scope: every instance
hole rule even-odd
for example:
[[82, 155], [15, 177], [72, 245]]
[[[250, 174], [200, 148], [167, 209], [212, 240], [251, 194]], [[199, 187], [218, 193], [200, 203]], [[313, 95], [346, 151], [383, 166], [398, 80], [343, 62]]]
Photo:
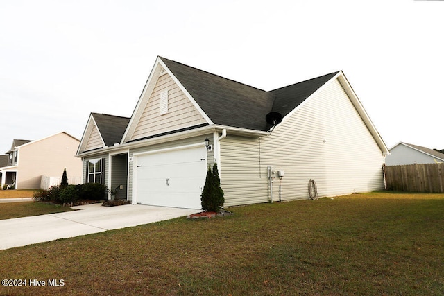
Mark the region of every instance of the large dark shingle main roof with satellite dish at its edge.
[[161, 58], [210, 119], [220, 125], [268, 130], [265, 116], [286, 116], [336, 73], [266, 92], [185, 64]]

